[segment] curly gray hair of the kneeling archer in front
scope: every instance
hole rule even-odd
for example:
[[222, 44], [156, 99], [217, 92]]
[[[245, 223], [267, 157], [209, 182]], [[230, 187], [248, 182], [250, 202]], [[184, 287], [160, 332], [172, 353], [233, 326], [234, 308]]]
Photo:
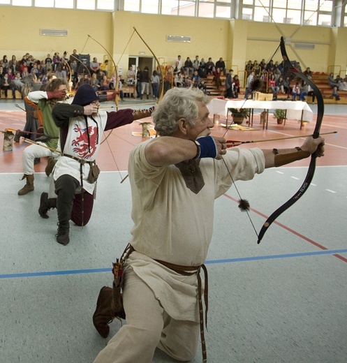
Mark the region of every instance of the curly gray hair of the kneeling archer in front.
[[195, 126], [198, 118], [198, 102], [209, 103], [209, 96], [197, 88], [169, 89], [152, 114], [156, 132], [161, 136], [172, 136], [178, 130], [178, 120], [186, 119]]

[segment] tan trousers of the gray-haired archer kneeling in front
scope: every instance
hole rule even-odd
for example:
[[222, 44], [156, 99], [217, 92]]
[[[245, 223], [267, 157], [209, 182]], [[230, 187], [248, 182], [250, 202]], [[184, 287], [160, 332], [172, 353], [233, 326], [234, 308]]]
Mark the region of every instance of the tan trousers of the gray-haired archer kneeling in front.
[[150, 363], [156, 348], [181, 362], [195, 357], [198, 323], [170, 318], [131, 268], [126, 269], [123, 294], [126, 325], [110, 339], [94, 363]]

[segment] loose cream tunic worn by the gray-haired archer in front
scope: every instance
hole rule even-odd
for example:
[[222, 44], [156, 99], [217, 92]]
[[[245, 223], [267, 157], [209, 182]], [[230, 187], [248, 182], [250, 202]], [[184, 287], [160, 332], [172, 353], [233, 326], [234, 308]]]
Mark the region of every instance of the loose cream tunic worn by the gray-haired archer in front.
[[[147, 142], [150, 142], [147, 141]], [[154, 291], [165, 311], [177, 320], [198, 321], [196, 276], [182, 276], [155, 260], [198, 266], [212, 239], [214, 200], [232, 180], [223, 161], [202, 158], [205, 186], [187, 188], [175, 165], [154, 167], [145, 158], [147, 142], [131, 151], [128, 172], [133, 197], [133, 252], [127, 263]], [[223, 156], [235, 180], [249, 180], [265, 169], [263, 151], [232, 148]]]

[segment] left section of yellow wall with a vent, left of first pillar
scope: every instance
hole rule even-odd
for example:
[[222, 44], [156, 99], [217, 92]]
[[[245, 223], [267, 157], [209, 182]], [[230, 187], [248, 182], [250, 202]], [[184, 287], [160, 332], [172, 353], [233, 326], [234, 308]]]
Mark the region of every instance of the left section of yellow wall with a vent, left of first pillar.
[[[29, 52], [36, 59], [45, 59], [47, 53], [53, 56], [64, 51], [68, 54], [82, 52], [88, 34], [100, 41], [107, 49], [112, 41], [112, 13], [87, 10], [62, 10], [29, 8], [22, 6], [0, 7], [0, 57], [13, 54], [17, 59]], [[40, 29], [66, 29], [68, 36], [40, 36]], [[53, 54], [52, 54], [53, 53]], [[89, 39], [83, 54], [91, 54], [103, 60], [105, 51]]]

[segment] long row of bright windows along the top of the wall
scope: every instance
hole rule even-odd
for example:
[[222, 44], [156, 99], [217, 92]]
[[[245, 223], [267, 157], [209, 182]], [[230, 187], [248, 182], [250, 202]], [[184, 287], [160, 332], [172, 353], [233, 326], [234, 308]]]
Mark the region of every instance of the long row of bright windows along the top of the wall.
[[[346, 4], [336, 22], [334, 2], [343, 0], [0, 0], [0, 4], [84, 10], [242, 19], [278, 24], [347, 27]], [[334, 15], [336, 16], [336, 15]]]

